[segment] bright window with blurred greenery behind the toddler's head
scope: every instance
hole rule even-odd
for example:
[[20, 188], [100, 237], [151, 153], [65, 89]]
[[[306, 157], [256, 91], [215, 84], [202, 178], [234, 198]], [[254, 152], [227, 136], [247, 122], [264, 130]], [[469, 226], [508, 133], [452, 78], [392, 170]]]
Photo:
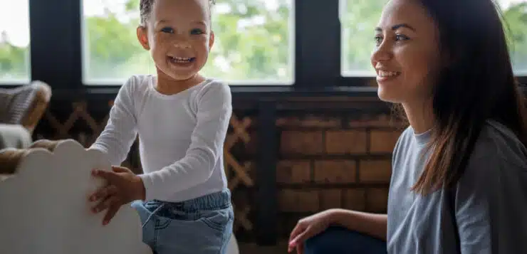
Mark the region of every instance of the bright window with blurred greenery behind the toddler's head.
[[[229, 83], [293, 83], [292, 0], [217, 0], [216, 40], [202, 73]], [[139, 0], [83, 0], [83, 81], [120, 84], [155, 73], [137, 42]]]

